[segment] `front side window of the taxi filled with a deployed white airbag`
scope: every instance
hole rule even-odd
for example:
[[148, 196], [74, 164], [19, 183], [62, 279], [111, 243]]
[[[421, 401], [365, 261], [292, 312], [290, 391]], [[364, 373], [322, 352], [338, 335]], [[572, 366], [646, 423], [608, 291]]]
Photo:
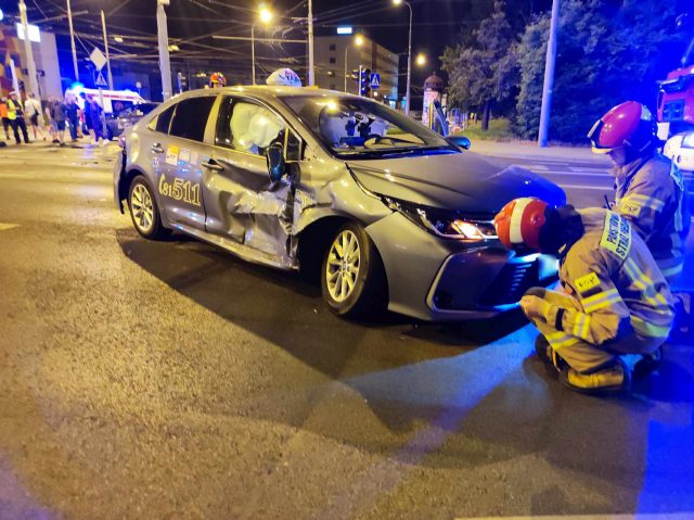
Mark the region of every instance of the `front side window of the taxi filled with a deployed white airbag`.
[[239, 152], [265, 155], [274, 142], [284, 145], [286, 123], [259, 103], [246, 99], [224, 98], [215, 143]]

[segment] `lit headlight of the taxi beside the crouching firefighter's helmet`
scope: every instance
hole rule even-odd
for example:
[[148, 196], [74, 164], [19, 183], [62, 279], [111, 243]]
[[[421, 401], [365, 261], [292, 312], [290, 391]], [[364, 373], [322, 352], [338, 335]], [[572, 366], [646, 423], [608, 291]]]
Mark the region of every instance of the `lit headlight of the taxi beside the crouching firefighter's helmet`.
[[440, 238], [471, 242], [497, 238], [492, 221], [465, 218], [453, 212], [432, 210], [387, 196], [384, 196], [383, 201], [390, 210], [401, 213], [417, 226]]

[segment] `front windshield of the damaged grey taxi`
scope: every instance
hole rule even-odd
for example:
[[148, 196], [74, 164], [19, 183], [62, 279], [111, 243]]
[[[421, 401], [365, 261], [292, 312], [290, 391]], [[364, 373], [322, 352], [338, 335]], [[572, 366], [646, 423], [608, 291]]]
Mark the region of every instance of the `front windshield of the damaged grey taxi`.
[[365, 98], [295, 96], [283, 100], [336, 157], [458, 152], [414, 119]]

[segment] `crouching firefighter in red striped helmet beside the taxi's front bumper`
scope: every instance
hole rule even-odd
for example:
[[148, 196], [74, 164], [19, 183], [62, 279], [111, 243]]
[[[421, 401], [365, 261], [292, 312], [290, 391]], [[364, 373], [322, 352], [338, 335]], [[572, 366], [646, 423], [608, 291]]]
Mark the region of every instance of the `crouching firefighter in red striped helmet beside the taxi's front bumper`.
[[563, 291], [534, 288], [520, 300], [542, 334], [538, 355], [573, 390], [627, 389], [631, 372], [620, 355], [658, 353], [674, 316], [668, 283], [629, 221], [608, 210], [517, 199], [494, 217], [494, 226], [507, 248], [560, 259]]

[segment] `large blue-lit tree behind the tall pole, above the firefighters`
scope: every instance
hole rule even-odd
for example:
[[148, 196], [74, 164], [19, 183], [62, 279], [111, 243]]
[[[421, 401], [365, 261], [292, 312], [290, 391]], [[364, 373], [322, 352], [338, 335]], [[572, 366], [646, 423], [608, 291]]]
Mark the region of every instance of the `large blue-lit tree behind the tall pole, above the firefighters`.
[[[562, 0], [550, 132], [584, 142], [593, 123], [627, 100], [655, 110], [656, 80], [677, 66], [682, 37], [673, 0]], [[549, 14], [527, 25], [514, 128], [536, 138], [542, 102]]]

